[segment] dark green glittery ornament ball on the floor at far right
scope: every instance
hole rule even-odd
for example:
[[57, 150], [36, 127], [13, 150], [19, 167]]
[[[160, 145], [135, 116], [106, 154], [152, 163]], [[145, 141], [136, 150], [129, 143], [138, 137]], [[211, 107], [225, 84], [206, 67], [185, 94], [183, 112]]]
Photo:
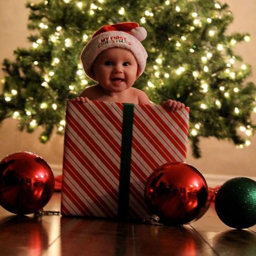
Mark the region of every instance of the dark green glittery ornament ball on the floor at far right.
[[256, 181], [238, 177], [224, 183], [215, 198], [215, 211], [224, 224], [248, 228], [256, 224]]

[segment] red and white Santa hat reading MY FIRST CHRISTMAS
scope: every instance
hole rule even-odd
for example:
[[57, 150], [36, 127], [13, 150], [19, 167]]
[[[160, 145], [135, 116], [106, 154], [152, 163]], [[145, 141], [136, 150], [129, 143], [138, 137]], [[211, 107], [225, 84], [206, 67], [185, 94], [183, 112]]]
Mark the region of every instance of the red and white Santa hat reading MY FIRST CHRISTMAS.
[[142, 75], [146, 66], [147, 52], [140, 41], [146, 36], [146, 29], [134, 22], [102, 26], [93, 34], [80, 55], [86, 75], [93, 80], [96, 79], [92, 71], [93, 62], [100, 52], [113, 47], [130, 50], [138, 63], [138, 75]]

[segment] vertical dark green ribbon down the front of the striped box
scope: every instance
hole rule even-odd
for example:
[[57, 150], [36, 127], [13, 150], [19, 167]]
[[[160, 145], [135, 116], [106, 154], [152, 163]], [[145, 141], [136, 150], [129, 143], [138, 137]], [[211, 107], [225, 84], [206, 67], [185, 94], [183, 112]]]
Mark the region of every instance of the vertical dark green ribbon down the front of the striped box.
[[130, 174], [132, 156], [133, 104], [124, 103], [121, 164], [118, 194], [118, 218], [129, 215]]

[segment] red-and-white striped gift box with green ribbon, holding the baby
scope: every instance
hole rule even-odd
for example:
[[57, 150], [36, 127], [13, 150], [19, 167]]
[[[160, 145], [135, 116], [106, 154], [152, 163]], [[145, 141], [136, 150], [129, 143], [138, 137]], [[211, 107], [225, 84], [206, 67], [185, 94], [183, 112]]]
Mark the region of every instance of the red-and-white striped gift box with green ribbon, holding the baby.
[[62, 215], [144, 219], [147, 178], [185, 161], [189, 109], [67, 100]]

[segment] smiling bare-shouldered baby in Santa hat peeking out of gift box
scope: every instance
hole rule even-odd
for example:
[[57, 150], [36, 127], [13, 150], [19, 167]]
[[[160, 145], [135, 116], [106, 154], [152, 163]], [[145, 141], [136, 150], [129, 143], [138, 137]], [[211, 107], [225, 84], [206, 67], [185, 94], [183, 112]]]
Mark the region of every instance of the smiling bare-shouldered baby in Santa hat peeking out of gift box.
[[[86, 75], [98, 84], [87, 87], [76, 100], [153, 104], [145, 92], [132, 87], [146, 66], [147, 52], [140, 43], [146, 35], [145, 28], [133, 22], [106, 25], [96, 31], [80, 59]], [[162, 105], [170, 111], [185, 106], [171, 99]]]

